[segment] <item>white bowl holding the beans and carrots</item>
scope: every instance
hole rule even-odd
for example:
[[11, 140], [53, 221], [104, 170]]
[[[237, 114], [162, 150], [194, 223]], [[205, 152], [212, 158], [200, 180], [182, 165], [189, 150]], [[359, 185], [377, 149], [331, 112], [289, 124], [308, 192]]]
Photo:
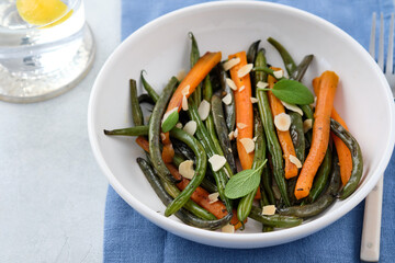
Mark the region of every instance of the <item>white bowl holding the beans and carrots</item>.
[[[128, 79], [145, 69], [159, 90], [181, 69], [189, 68], [190, 39], [198, 38], [201, 54], [246, 50], [262, 39], [268, 61], [283, 67], [279, 54], [266, 42], [274, 37], [296, 61], [314, 54], [304, 82], [324, 70], [340, 77], [335, 106], [358, 139], [364, 173], [358, 190], [337, 201], [325, 213], [303, 225], [273, 232], [249, 220], [245, 231], [223, 233], [187, 226], [163, 216], [165, 206], [136, 164], [143, 150], [134, 138], [108, 137], [103, 129], [132, 126]], [[90, 98], [89, 138], [110, 184], [134, 209], [157, 226], [185, 239], [225, 248], [262, 248], [290, 242], [332, 224], [356, 207], [383, 174], [394, 146], [394, 103], [388, 84], [369, 54], [353, 38], [329, 22], [307, 12], [268, 2], [211, 2], [178, 10], [143, 26], [125, 39], [100, 71]], [[160, 211], [160, 213], [158, 213]]]

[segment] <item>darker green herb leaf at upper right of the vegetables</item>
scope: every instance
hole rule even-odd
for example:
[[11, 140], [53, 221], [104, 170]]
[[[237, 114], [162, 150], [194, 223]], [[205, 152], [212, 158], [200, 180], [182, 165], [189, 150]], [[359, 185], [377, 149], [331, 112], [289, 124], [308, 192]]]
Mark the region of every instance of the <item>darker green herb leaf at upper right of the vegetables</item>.
[[281, 79], [271, 92], [283, 102], [291, 104], [306, 105], [314, 102], [313, 93], [296, 80]]

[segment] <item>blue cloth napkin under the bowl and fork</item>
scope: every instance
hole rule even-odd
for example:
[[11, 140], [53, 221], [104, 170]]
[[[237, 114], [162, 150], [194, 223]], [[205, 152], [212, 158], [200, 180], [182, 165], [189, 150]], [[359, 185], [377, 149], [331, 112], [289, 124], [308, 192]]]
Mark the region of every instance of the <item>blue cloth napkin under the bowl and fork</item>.
[[[147, 22], [199, 0], [122, 1], [122, 36]], [[318, 16], [345, 30], [365, 48], [372, 12], [388, 21], [392, 0], [276, 0]], [[395, 155], [385, 172], [381, 262], [395, 262]], [[345, 217], [302, 240], [252, 250], [234, 250], [191, 242], [153, 225], [131, 208], [110, 186], [105, 206], [104, 262], [359, 262], [362, 202]], [[204, 256], [202, 256], [204, 254]]]

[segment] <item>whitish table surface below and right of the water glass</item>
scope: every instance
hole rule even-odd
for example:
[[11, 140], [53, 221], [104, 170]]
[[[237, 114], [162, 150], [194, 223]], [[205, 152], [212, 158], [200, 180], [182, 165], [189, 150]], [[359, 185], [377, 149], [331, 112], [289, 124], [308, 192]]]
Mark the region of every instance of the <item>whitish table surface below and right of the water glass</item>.
[[71, 91], [0, 102], [0, 262], [101, 262], [108, 181], [88, 139], [95, 76], [121, 39], [121, 1], [84, 0], [97, 41], [92, 70]]

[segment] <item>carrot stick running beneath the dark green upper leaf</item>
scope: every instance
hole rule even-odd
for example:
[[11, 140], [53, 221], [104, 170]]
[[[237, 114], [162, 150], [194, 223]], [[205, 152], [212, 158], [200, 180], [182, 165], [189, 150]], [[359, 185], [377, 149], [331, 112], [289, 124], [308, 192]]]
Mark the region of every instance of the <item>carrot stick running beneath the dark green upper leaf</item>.
[[[273, 70], [281, 70], [280, 68], [272, 68]], [[269, 89], [272, 89], [275, 83], [275, 79], [272, 76], [268, 76]], [[285, 108], [281, 101], [273, 95], [272, 92], [268, 92], [269, 104], [273, 115], [273, 118], [281, 113], [285, 113]], [[283, 158], [285, 161], [285, 179], [291, 179], [297, 175], [297, 167], [290, 161], [290, 155], [296, 157], [295, 147], [292, 142], [290, 130], [279, 130], [275, 128], [281, 149], [283, 150]]]

